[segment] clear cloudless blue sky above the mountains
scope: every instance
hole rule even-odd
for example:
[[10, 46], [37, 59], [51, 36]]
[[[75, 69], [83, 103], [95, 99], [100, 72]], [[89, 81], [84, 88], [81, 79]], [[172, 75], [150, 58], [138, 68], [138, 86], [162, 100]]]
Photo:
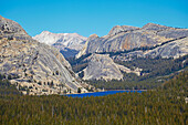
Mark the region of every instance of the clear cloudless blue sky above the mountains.
[[102, 37], [117, 24], [188, 28], [188, 0], [0, 0], [0, 14], [32, 37], [44, 30]]

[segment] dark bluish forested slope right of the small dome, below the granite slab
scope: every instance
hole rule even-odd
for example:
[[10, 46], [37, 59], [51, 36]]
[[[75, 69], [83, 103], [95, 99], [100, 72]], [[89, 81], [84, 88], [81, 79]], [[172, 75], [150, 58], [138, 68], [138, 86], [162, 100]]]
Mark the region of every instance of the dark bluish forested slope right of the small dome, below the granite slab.
[[[179, 71], [188, 66], [188, 55], [179, 59], [163, 59], [157, 56], [153, 58], [135, 58], [132, 61], [117, 61], [116, 63], [122, 64], [126, 67], [134, 70], [134, 67], [143, 69], [143, 79], [155, 77], [160, 75], [168, 75], [173, 72]], [[147, 74], [147, 75], [146, 75]]]

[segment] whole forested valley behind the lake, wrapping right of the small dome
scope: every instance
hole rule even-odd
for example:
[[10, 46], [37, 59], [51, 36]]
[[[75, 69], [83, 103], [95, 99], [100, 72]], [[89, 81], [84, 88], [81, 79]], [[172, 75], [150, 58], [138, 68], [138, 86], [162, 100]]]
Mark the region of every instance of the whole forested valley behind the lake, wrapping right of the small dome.
[[86, 81], [98, 88], [105, 90], [150, 90], [160, 86], [164, 81], [171, 79], [176, 72], [188, 70], [188, 55], [179, 59], [161, 59], [161, 58], [135, 58], [132, 61], [117, 61], [126, 67], [134, 70], [135, 67], [143, 69], [140, 76], [134, 73], [124, 73], [124, 80], [104, 81], [91, 80]]

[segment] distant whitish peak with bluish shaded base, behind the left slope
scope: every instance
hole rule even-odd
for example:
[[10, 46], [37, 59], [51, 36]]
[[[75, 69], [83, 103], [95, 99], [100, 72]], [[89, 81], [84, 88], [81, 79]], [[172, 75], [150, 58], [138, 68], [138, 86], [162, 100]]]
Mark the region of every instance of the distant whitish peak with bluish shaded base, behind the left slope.
[[43, 31], [41, 34], [33, 37], [41, 43], [58, 48], [64, 56], [74, 56], [85, 44], [87, 38], [77, 33], [51, 33]]

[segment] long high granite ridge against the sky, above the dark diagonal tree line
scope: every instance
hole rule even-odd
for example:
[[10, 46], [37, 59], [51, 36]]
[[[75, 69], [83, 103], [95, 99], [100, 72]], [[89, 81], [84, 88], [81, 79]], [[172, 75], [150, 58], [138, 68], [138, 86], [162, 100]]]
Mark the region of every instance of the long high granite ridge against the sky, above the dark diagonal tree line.
[[154, 46], [166, 41], [188, 37], [188, 29], [148, 23], [143, 28], [117, 25], [105, 37], [91, 35], [76, 58], [95, 52], [116, 52], [140, 46]]

